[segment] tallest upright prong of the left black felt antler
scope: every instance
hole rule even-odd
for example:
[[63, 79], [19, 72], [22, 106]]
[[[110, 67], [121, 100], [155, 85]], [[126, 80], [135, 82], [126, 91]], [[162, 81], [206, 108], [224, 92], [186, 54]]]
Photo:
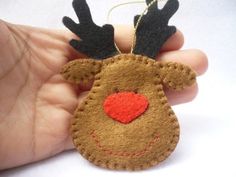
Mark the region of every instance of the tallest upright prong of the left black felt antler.
[[88, 4], [85, 0], [74, 0], [72, 4], [81, 24], [93, 23]]

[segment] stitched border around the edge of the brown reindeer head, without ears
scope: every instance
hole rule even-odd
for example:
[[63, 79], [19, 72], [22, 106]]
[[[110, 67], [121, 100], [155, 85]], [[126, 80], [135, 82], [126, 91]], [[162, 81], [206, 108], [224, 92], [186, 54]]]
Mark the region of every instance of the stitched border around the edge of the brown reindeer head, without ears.
[[[155, 66], [155, 67], [157, 67], [157, 69], [158, 68], [163, 69], [165, 67], [165, 66], [163, 66], [165, 64], [164, 62], [156, 62], [154, 60], [149, 60], [149, 58], [146, 56], [133, 55], [133, 54], [121, 54], [121, 55], [117, 55], [117, 56], [108, 58], [106, 60], [103, 60], [101, 63], [101, 66], [100, 66], [100, 70], [98, 73], [96, 73], [95, 80], [94, 80], [94, 83], [97, 82], [98, 85], [93, 85], [93, 88], [91, 89], [86, 100], [88, 100], [91, 96], [96, 94], [96, 87], [100, 86], [99, 81], [101, 79], [100, 74], [101, 74], [102, 68], [106, 67], [107, 65], [119, 62], [120, 60], [126, 60], [126, 59], [135, 60], [135, 61], [141, 62], [141, 64]], [[167, 112], [169, 114], [169, 118], [172, 119], [172, 121], [170, 123], [172, 124], [174, 133], [172, 135], [172, 138], [170, 139], [170, 147], [168, 149], [166, 149], [166, 151], [162, 152], [158, 157], [154, 157], [150, 162], [147, 162], [147, 163], [144, 163], [144, 164], [141, 164], [138, 166], [137, 165], [122, 165], [119, 163], [110, 162], [109, 160], [101, 161], [100, 159], [97, 159], [96, 157], [94, 157], [93, 154], [89, 154], [86, 151], [86, 147], [84, 147], [82, 144], [80, 144], [79, 141], [77, 141], [76, 133], [78, 132], [78, 128], [76, 126], [77, 116], [75, 116], [75, 119], [72, 120], [72, 127], [71, 127], [73, 143], [76, 146], [77, 150], [81, 153], [82, 156], [84, 156], [87, 160], [89, 160], [93, 164], [103, 167], [103, 168], [117, 169], [117, 170], [142, 170], [142, 169], [146, 169], [151, 166], [159, 164], [160, 162], [165, 160], [174, 151], [174, 149], [179, 141], [179, 124], [178, 124], [177, 118], [176, 118], [173, 110], [171, 109], [171, 106], [168, 104], [167, 98], [166, 98], [165, 93], [163, 91], [163, 86], [161, 83], [159, 83], [159, 81], [161, 80], [159, 73], [157, 73], [156, 76], [157, 76], [157, 78], [156, 78], [156, 80], [154, 80], [154, 85], [156, 86], [159, 98], [161, 99], [161, 104], [163, 107], [167, 107]], [[84, 106], [86, 105], [85, 101], [82, 103], [81, 107], [78, 110], [76, 110], [76, 112], [77, 111], [84, 111]]]

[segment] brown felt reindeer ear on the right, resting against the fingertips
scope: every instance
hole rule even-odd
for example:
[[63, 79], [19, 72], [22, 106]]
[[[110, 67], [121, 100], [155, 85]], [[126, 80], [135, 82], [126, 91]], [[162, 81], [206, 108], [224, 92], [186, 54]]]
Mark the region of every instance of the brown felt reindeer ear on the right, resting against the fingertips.
[[163, 84], [174, 90], [183, 90], [196, 82], [196, 73], [180, 63], [160, 63], [159, 75]]

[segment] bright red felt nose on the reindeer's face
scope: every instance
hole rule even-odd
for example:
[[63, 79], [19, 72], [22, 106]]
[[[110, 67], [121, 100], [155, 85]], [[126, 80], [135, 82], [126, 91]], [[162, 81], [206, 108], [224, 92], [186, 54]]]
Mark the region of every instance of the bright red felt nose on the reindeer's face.
[[127, 124], [146, 111], [148, 100], [134, 92], [120, 92], [109, 95], [104, 101], [103, 108], [109, 117]]

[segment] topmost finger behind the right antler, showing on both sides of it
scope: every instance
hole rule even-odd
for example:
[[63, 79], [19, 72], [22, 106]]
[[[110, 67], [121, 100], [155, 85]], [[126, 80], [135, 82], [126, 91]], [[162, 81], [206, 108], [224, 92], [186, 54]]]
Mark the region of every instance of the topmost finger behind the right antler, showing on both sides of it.
[[[117, 25], [115, 27], [115, 42], [122, 52], [130, 52], [133, 42], [133, 26]], [[157, 39], [158, 40], [158, 39]], [[178, 50], [184, 44], [184, 37], [180, 31], [172, 35], [163, 45], [161, 51]]]

